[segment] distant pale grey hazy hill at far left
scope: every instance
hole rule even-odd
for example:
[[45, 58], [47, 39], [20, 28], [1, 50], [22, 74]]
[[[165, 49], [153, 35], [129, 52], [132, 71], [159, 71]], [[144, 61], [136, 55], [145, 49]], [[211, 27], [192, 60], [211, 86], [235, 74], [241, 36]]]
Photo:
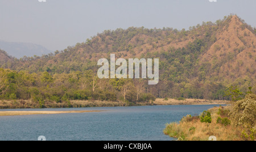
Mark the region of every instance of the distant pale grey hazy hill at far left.
[[42, 56], [42, 54], [51, 53], [51, 50], [43, 47], [42, 45], [33, 43], [16, 43], [0, 40], [0, 49], [5, 50], [8, 54], [16, 58], [23, 56]]

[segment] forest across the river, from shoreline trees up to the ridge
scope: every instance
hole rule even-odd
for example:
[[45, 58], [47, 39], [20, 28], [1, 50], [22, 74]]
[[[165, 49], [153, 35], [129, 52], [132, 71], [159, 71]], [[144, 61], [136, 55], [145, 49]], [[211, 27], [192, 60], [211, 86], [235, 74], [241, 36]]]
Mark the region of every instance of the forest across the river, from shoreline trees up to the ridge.
[[[224, 96], [231, 86], [237, 87], [244, 96], [250, 86], [252, 92], [256, 91], [256, 69], [251, 66], [256, 62], [255, 47], [246, 38], [254, 38], [256, 30], [241, 19], [242, 26], [231, 25], [233, 18], [230, 15], [216, 23], [203, 22], [188, 31], [144, 27], [107, 30], [84, 43], [41, 57], [17, 59], [0, 50], [0, 67], [3, 68], [0, 69], [0, 98], [32, 100], [42, 107], [47, 101], [69, 100], [125, 100], [130, 103], [150, 102], [155, 98], [223, 100], [232, 98]], [[240, 36], [241, 41], [236, 42], [233, 52], [223, 53], [221, 48], [229, 44], [216, 43], [222, 40], [218, 36], [228, 31], [228, 27], [236, 28], [237, 35], [242, 30], [245, 34]], [[205, 58], [212, 48], [222, 54]], [[245, 51], [248, 60], [240, 58], [234, 64], [239, 53]], [[158, 85], [149, 86], [147, 80], [142, 79], [98, 79], [97, 60], [109, 59], [110, 53], [126, 59], [160, 58]], [[230, 71], [222, 72], [222, 69]]]

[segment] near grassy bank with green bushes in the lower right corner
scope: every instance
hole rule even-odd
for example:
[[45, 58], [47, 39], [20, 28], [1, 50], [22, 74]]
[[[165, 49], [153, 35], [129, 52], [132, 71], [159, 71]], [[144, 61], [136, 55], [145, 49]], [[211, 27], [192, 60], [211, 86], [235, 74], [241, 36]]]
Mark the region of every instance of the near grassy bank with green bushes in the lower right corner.
[[256, 140], [256, 95], [234, 101], [226, 107], [214, 107], [199, 116], [185, 116], [179, 123], [167, 124], [164, 134], [178, 140], [218, 141]]

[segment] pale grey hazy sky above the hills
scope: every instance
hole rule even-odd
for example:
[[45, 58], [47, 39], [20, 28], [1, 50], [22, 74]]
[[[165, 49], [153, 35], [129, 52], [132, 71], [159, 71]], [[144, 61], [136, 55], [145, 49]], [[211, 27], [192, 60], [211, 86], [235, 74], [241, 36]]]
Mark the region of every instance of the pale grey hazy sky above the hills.
[[0, 40], [62, 50], [105, 29], [188, 29], [230, 13], [256, 27], [255, 0], [0, 0]]

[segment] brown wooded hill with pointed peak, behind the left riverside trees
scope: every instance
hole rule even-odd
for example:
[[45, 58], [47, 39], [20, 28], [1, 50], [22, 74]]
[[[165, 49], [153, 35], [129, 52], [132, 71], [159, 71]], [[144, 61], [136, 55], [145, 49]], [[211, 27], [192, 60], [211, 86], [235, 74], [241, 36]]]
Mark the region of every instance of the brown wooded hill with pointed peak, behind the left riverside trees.
[[[54, 42], [53, 42], [54, 43]], [[256, 29], [236, 15], [189, 30], [173, 28], [107, 30], [75, 47], [20, 60], [6, 56], [1, 67], [29, 73], [70, 74], [98, 69], [98, 59], [159, 58], [158, 97], [222, 99], [229, 85], [256, 90]], [[2, 56], [2, 55], [1, 55]], [[187, 89], [193, 92], [186, 92]]]

